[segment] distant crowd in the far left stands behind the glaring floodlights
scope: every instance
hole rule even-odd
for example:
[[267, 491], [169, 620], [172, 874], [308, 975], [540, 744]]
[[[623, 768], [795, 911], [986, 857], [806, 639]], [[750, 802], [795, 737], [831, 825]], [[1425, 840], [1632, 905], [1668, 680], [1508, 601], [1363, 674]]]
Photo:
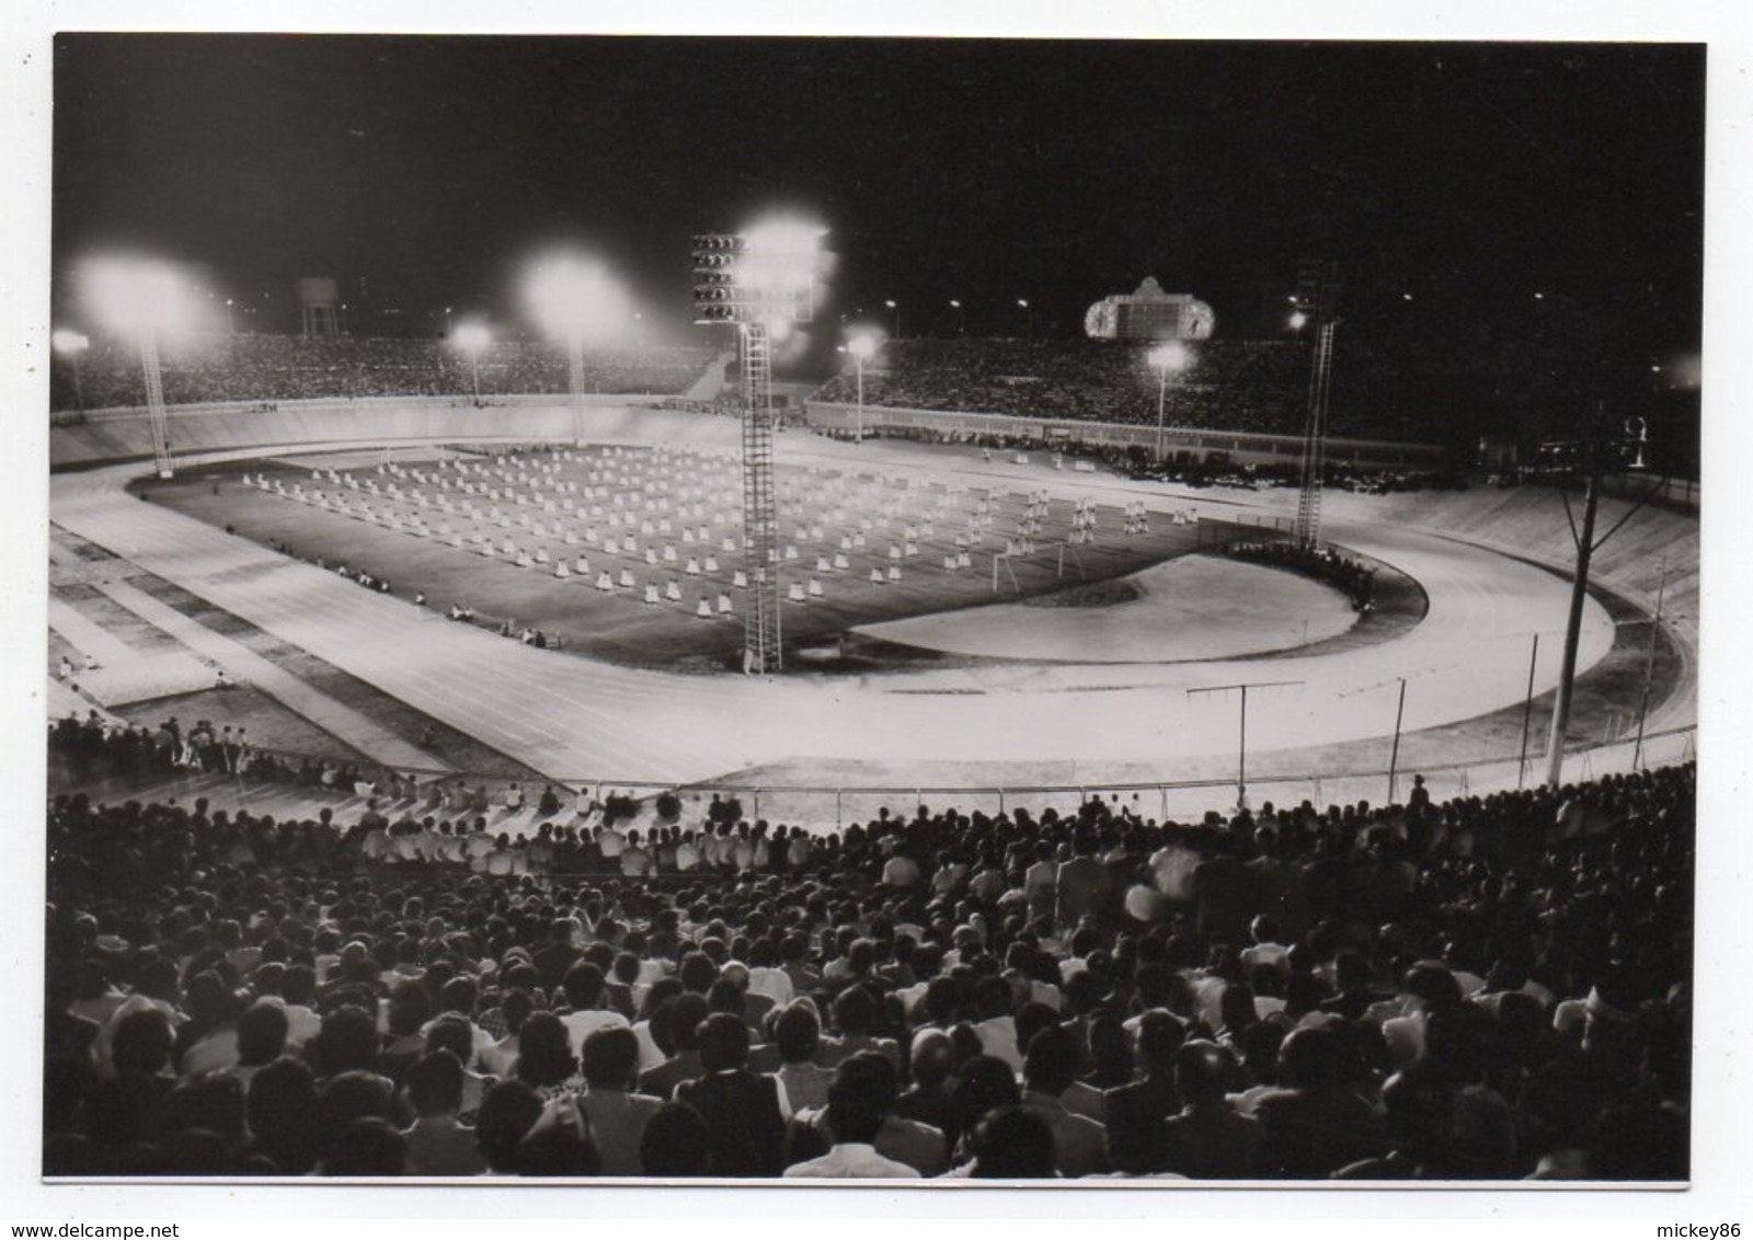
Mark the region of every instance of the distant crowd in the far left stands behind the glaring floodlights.
[[[586, 391], [675, 394], [713, 359], [712, 349], [587, 349]], [[470, 359], [431, 338], [200, 336], [163, 350], [165, 401], [302, 401], [365, 396], [473, 399]], [[566, 352], [556, 345], [496, 340], [480, 356], [482, 399], [494, 394], [566, 392]], [[51, 389], [56, 410], [126, 408], [145, 403], [140, 357], [121, 343], [95, 343], [81, 359], [79, 391]]]

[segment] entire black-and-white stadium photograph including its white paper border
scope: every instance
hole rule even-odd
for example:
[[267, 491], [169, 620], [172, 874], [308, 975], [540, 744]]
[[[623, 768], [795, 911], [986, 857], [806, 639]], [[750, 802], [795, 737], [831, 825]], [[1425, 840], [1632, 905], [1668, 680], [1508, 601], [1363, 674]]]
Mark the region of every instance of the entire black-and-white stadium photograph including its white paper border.
[[1706, 39], [133, 25], [33, 1184], [1693, 1184]]

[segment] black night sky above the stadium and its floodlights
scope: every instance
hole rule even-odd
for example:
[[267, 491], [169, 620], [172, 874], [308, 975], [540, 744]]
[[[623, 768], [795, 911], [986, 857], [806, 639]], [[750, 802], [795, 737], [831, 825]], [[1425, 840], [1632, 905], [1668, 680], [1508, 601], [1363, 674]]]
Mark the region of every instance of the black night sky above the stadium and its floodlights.
[[74, 35], [56, 53], [58, 271], [130, 243], [238, 294], [363, 275], [410, 314], [505, 315], [519, 259], [571, 238], [680, 329], [689, 235], [794, 203], [841, 256], [824, 317], [898, 298], [908, 335], [947, 331], [952, 296], [971, 333], [1015, 331], [1026, 296], [1069, 335], [1155, 275], [1246, 336], [1299, 257], [1332, 256], [1359, 326], [1467, 342], [1550, 314], [1543, 289], [1586, 306], [1579, 347], [1697, 349], [1697, 46]]

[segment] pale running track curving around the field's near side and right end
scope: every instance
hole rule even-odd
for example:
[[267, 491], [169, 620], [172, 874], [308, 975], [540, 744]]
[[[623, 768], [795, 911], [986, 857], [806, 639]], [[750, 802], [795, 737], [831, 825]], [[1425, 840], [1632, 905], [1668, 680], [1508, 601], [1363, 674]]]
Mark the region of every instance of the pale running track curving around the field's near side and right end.
[[[833, 448], [820, 441], [782, 448], [799, 462], [822, 455]], [[929, 457], [912, 459], [931, 468]], [[1534, 692], [1553, 688], [1569, 601], [1567, 581], [1488, 550], [1406, 527], [1327, 522], [1331, 541], [1425, 587], [1423, 624], [1387, 645], [1271, 662], [685, 676], [591, 664], [449, 624], [140, 503], [124, 490], [140, 471], [56, 475], [53, 522], [556, 779], [685, 783], [808, 758], [1160, 762], [1167, 774], [1175, 758], [1234, 748], [1234, 695], [1187, 690], [1262, 680], [1302, 683], [1250, 699], [1250, 751], [1387, 736], [1399, 678], [1408, 681], [1411, 732], [1522, 702], [1536, 632]], [[1043, 485], [1040, 475], [1031, 485]], [[1062, 494], [1124, 487], [1085, 478], [1047, 485]], [[1182, 494], [1136, 494], [1162, 508], [1187, 504]], [[1590, 601], [1578, 669], [1611, 645], [1613, 624]]]

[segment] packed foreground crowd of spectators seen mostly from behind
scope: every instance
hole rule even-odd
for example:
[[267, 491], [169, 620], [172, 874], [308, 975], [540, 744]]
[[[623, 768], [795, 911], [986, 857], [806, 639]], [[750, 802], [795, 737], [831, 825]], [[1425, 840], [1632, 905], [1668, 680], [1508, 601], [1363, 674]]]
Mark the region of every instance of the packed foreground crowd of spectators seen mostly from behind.
[[473, 811], [61, 795], [44, 1166], [1681, 1179], [1693, 795], [543, 804], [522, 851], [652, 860], [591, 877], [496, 865]]

